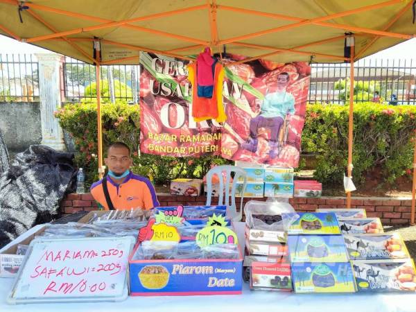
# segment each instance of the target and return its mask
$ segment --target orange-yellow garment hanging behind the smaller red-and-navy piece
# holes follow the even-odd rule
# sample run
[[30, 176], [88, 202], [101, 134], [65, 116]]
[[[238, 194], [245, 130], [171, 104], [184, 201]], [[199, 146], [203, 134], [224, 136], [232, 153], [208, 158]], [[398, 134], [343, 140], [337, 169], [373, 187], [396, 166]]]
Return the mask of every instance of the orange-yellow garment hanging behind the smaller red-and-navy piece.
[[188, 80], [192, 84], [192, 116], [196, 122], [215, 119], [219, 123], [227, 119], [223, 105], [224, 68], [219, 62], [215, 65], [214, 91], [212, 98], [202, 98], [197, 92], [196, 62], [188, 65]]

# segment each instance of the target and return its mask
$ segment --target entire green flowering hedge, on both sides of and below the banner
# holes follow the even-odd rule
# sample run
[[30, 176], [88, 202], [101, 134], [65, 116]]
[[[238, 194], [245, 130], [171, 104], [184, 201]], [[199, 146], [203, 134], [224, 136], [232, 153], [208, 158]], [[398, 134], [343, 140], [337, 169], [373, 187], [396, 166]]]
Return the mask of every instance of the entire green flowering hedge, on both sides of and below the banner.
[[[64, 130], [73, 137], [78, 166], [85, 168], [87, 182], [97, 180], [96, 104], [69, 104], [55, 112]], [[133, 170], [156, 184], [176, 177], [203, 177], [211, 164], [226, 164], [220, 157], [175, 158], [139, 154], [139, 107], [118, 102], [102, 105], [103, 144], [125, 141], [133, 151]], [[356, 103], [354, 106], [354, 182], [365, 183], [370, 173], [380, 184], [394, 184], [408, 175], [413, 161], [416, 107]], [[347, 167], [348, 107], [308, 105], [302, 134], [302, 151], [316, 157], [315, 177], [327, 186], [339, 187]], [[301, 162], [300, 168], [304, 167]]]

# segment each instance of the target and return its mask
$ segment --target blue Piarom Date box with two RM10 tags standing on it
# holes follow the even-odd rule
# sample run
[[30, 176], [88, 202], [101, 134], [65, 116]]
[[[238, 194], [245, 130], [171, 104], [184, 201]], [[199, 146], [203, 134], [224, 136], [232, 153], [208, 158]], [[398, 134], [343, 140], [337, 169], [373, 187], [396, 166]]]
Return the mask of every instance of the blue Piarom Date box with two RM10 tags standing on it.
[[241, 293], [243, 256], [236, 234], [222, 216], [211, 218], [189, 241], [181, 239], [181, 225], [162, 218], [150, 219], [139, 230], [129, 257], [131, 295]]

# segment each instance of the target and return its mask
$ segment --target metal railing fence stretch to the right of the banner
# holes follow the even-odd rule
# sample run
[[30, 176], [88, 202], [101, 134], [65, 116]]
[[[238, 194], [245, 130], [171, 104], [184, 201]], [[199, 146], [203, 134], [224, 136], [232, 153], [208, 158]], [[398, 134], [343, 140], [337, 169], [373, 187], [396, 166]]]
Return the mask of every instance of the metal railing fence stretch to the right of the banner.
[[[349, 101], [349, 64], [311, 67], [309, 103]], [[359, 60], [354, 64], [354, 101], [415, 105], [415, 77], [416, 60]]]

